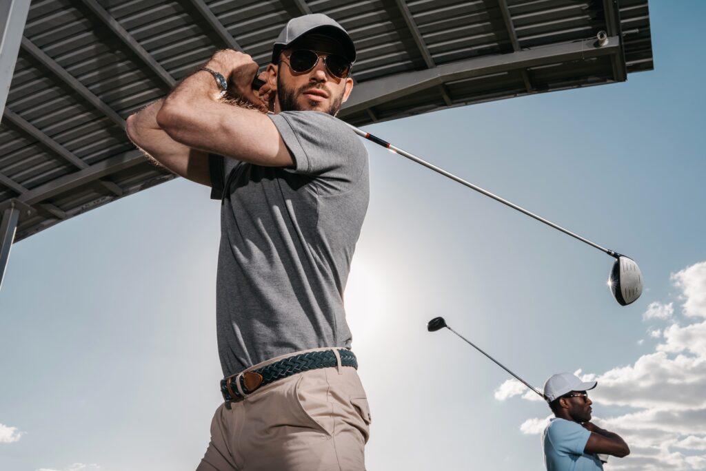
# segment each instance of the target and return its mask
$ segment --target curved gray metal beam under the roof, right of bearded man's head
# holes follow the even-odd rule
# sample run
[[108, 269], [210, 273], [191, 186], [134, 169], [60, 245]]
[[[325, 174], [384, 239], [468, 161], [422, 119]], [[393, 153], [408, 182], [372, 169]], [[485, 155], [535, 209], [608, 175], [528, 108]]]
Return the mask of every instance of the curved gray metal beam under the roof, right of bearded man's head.
[[364, 111], [409, 94], [438, 87], [446, 82], [517, 71], [520, 68], [549, 65], [551, 63], [592, 59], [620, 53], [618, 37], [608, 38], [608, 44], [599, 46], [593, 39], [564, 42], [546, 47], [525, 49], [508, 54], [480, 56], [466, 61], [443, 64], [423, 71], [405, 72], [364, 82], [356, 87], [351, 98], [341, 109], [341, 118]]

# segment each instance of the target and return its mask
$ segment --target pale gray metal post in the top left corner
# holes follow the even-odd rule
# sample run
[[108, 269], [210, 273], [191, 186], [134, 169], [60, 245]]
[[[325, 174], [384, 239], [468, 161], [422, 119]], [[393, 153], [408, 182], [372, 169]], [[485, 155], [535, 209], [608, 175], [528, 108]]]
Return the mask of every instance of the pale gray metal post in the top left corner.
[[0, 1], [0, 120], [10, 91], [29, 11], [30, 0]]

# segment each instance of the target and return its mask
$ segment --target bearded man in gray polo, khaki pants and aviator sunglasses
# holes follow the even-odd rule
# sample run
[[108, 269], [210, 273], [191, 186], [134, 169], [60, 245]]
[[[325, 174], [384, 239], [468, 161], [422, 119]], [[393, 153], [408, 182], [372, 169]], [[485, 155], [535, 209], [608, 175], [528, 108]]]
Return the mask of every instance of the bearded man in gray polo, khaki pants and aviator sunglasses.
[[[368, 206], [368, 159], [335, 118], [355, 57], [335, 21], [295, 18], [259, 91], [250, 56], [218, 51], [128, 118], [145, 154], [210, 185], [222, 204], [216, 316], [226, 402], [200, 471], [365, 469], [370, 412], [343, 291]], [[225, 92], [261, 110], [225, 104]]]

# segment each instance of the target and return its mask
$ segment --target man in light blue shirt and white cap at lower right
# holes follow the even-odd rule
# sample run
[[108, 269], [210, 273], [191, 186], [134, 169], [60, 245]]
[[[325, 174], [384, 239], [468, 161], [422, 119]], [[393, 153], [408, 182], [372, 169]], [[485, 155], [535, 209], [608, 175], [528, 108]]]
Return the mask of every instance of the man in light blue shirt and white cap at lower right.
[[592, 400], [587, 391], [597, 381], [581, 381], [575, 374], [554, 374], [544, 383], [544, 398], [554, 418], [542, 434], [547, 471], [602, 470], [597, 454], [622, 458], [630, 448], [618, 434], [591, 422]]

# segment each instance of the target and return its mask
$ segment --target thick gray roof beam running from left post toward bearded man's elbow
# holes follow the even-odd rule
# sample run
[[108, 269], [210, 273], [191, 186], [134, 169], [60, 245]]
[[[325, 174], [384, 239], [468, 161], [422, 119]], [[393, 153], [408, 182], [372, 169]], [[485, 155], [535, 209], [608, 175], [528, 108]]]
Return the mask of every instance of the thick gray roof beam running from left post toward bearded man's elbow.
[[81, 185], [86, 185], [111, 173], [142, 164], [145, 161], [147, 161], [147, 159], [145, 159], [142, 152], [137, 149], [131, 150], [124, 154], [102, 160], [87, 169], [69, 173], [68, 175], [56, 178], [56, 180], [45, 183], [37, 188], [32, 188], [32, 190], [20, 194], [17, 199], [20, 202], [34, 206], [37, 203], [44, 202], [44, 200], [60, 195], [63, 192], [73, 190], [73, 188], [78, 188]]

